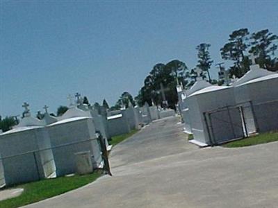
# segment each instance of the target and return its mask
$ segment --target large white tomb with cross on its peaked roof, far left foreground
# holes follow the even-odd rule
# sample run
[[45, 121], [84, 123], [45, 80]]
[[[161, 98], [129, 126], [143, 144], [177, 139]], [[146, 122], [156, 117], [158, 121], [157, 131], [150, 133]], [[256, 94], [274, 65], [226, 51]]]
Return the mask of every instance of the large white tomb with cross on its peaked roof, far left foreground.
[[24, 107], [25, 117], [19, 125], [0, 135], [0, 153], [7, 185], [56, 177], [56, 165], [44, 122], [31, 116], [27, 103]]

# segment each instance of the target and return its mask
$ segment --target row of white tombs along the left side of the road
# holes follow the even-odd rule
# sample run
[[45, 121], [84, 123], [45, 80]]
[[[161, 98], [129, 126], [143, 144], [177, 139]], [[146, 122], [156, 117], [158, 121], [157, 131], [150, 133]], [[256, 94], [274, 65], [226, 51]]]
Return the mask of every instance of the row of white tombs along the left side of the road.
[[0, 133], [0, 188], [103, 168], [98, 135], [110, 150], [111, 137], [175, 114], [174, 110], [158, 110], [147, 103], [104, 114], [84, 104], [70, 105], [59, 117], [45, 110], [39, 120], [26, 107], [19, 124]]

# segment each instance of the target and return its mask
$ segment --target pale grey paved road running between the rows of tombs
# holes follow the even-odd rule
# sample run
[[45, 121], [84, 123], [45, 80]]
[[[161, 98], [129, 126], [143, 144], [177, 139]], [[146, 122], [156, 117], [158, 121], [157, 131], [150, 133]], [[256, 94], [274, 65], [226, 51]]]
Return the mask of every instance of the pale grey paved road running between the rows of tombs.
[[277, 207], [277, 142], [201, 149], [177, 122], [156, 121], [116, 146], [113, 177], [28, 208]]

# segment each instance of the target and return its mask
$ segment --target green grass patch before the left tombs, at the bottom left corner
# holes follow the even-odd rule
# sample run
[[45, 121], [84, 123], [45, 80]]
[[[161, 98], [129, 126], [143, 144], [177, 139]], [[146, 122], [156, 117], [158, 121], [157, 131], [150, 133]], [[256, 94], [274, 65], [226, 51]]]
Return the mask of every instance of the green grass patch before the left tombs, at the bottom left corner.
[[57, 177], [21, 184], [17, 187], [24, 189], [22, 195], [0, 201], [0, 208], [22, 207], [33, 202], [51, 198], [61, 193], [82, 187], [85, 184], [93, 182], [100, 176], [101, 173], [92, 173], [88, 175], [74, 175], [72, 177]]

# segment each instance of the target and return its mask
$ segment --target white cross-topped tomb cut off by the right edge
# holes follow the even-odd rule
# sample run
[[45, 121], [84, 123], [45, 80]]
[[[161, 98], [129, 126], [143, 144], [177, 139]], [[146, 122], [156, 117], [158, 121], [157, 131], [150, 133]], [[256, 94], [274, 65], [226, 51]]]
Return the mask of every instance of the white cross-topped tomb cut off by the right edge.
[[252, 56], [250, 71], [233, 86], [236, 103], [243, 105], [248, 133], [277, 130], [278, 73], [261, 69]]

